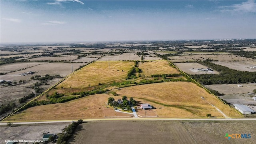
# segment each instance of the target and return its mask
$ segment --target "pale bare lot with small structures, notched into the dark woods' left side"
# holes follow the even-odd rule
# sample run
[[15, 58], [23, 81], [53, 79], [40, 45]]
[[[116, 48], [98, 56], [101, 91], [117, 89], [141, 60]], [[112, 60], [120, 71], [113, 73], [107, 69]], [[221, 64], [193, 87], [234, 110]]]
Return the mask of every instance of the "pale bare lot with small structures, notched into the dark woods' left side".
[[194, 69], [197, 69], [197, 68], [208, 68], [208, 67], [203, 66], [202, 64], [195, 63], [195, 62], [175, 63], [174, 65], [177, 66], [183, 72], [186, 72], [188, 74], [219, 74], [219, 72], [217, 72], [217, 71], [213, 71], [213, 72], [196, 71]]

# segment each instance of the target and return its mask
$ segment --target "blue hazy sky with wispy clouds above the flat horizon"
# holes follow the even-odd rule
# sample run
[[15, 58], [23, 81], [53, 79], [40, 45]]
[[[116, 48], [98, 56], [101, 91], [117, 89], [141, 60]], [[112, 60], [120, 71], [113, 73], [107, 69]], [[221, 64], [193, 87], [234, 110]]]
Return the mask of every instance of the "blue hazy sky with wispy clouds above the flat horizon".
[[1, 43], [256, 38], [256, 1], [0, 0]]

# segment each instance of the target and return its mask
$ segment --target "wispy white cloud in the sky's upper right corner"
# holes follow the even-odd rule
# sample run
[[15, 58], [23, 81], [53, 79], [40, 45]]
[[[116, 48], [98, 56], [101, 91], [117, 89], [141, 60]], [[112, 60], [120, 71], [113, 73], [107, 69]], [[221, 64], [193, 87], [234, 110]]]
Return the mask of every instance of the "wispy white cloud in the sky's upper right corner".
[[248, 0], [241, 4], [233, 4], [232, 6], [221, 6], [222, 12], [256, 12], [256, 3], [254, 0]]

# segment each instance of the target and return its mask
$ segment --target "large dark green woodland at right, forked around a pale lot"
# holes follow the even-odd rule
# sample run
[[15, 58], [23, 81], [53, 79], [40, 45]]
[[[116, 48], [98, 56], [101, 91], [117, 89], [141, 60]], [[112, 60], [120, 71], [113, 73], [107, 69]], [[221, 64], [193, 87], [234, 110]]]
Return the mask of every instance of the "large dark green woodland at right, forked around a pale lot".
[[200, 84], [238, 84], [256, 82], [256, 72], [242, 72], [206, 61], [199, 61], [198, 63], [220, 72], [220, 74], [192, 75], [191, 78], [195, 79]]

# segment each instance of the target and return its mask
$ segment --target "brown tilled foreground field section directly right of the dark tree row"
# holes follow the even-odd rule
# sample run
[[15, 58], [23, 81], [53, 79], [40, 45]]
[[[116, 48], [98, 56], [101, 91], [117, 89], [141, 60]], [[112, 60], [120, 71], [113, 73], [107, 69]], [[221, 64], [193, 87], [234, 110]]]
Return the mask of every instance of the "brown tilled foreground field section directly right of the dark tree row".
[[[179, 122], [97, 121], [82, 124], [70, 144], [194, 144]], [[120, 140], [120, 141], [117, 141]]]

